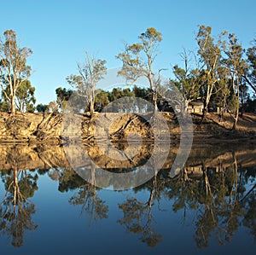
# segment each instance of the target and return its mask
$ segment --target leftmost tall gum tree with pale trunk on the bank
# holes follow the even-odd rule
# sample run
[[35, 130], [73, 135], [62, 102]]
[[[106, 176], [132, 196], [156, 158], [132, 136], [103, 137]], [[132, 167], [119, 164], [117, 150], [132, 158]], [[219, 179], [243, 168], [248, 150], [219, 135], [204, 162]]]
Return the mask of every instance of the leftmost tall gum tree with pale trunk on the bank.
[[[15, 114], [16, 92], [31, 74], [31, 67], [26, 65], [26, 59], [32, 55], [32, 49], [20, 48], [13, 30], [5, 31], [3, 36], [4, 40], [0, 42], [0, 85], [3, 95], [11, 104], [11, 113]], [[9, 95], [6, 91], [8, 87]]]

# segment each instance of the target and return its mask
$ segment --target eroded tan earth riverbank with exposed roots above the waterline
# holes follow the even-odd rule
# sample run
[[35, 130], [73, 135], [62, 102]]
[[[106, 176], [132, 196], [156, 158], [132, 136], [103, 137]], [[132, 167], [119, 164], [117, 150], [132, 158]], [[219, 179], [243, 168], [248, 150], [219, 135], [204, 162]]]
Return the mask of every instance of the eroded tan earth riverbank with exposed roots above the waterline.
[[[161, 113], [167, 124], [158, 123], [157, 128], [163, 141], [171, 136], [171, 141], [180, 139], [181, 130], [177, 117], [173, 113]], [[114, 119], [112, 121], [112, 119]], [[89, 114], [79, 115], [76, 129], [67, 131], [62, 126], [61, 113], [0, 113], [0, 142], [30, 142], [30, 143], [66, 143], [72, 142], [76, 136], [84, 142], [94, 142], [95, 137], [108, 138], [113, 142], [125, 142], [128, 136], [137, 133], [143, 141], [154, 141], [154, 130], [145, 119], [147, 114], [137, 116], [132, 113], [95, 113], [90, 119]], [[219, 119], [217, 113], [207, 113], [207, 118], [201, 122], [201, 115], [193, 114], [193, 140], [202, 141], [256, 141], [256, 114], [244, 113], [239, 118], [237, 130], [231, 130], [233, 119], [229, 113], [224, 119]], [[73, 120], [71, 119], [71, 122]], [[81, 126], [79, 129], [78, 126]], [[79, 134], [79, 132], [80, 134]], [[136, 138], [136, 136], [135, 136]], [[107, 139], [107, 138], [106, 138]]]

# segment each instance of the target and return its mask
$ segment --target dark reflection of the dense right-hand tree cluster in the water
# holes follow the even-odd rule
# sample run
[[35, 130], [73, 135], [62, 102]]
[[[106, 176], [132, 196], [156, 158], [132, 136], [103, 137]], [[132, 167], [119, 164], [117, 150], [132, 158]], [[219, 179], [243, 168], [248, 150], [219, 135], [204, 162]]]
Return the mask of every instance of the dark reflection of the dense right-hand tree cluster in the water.
[[195, 212], [195, 242], [199, 248], [207, 247], [212, 235], [220, 245], [231, 241], [241, 224], [255, 234], [255, 184], [246, 193], [247, 178], [252, 172], [255, 183], [255, 170], [238, 171], [236, 154], [230, 167], [207, 168], [202, 164], [200, 177], [193, 176], [192, 171], [189, 175], [188, 170], [184, 168], [169, 180], [165, 192], [175, 201], [174, 212], [184, 210], [184, 220], [188, 209]]

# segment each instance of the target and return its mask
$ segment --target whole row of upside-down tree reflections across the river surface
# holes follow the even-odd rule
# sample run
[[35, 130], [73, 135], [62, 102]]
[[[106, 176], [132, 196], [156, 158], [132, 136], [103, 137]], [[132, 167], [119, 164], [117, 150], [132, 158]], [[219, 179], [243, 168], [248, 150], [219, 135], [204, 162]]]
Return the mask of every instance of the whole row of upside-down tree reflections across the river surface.
[[[199, 248], [209, 246], [214, 238], [220, 245], [230, 242], [241, 227], [247, 228], [256, 241], [256, 166], [242, 167], [240, 160], [236, 153], [214, 164], [207, 157], [199, 157], [190, 160], [175, 177], [168, 169], [154, 169], [151, 180], [130, 190], [131, 195], [119, 203], [123, 217], [118, 223], [148, 246], [157, 246], [162, 240], [157, 221], [164, 213], [157, 205], [169, 200], [173, 213], [181, 212], [184, 223], [195, 225]], [[95, 183], [94, 165], [89, 172], [90, 183]], [[73, 192], [70, 205], [80, 206], [92, 223], [108, 218], [108, 204], [98, 194], [100, 188], [85, 182], [73, 169], [51, 168], [37, 173], [58, 182], [60, 192]], [[18, 171], [17, 166], [0, 174], [6, 192], [0, 206], [0, 231], [13, 246], [21, 246], [25, 231], [37, 229], [32, 222], [35, 206], [28, 199], [38, 189], [38, 175], [35, 171]], [[146, 195], [145, 200], [139, 199], [140, 191]]]

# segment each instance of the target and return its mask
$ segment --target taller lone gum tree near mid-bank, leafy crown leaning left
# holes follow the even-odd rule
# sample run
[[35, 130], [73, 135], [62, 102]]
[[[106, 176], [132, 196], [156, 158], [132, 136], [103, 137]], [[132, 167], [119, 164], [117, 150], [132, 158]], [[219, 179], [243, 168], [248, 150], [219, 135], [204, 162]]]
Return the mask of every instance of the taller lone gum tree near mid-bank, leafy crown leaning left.
[[153, 63], [157, 56], [162, 35], [154, 27], [149, 27], [138, 38], [139, 43], [125, 45], [125, 51], [117, 55], [117, 58], [123, 62], [119, 75], [124, 76], [132, 83], [136, 82], [138, 78], [147, 78], [153, 95], [154, 110], [156, 111], [159, 72], [154, 72]]

